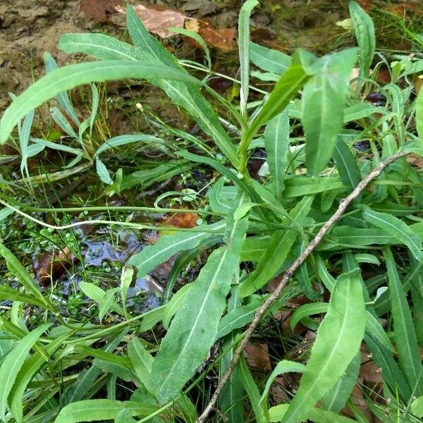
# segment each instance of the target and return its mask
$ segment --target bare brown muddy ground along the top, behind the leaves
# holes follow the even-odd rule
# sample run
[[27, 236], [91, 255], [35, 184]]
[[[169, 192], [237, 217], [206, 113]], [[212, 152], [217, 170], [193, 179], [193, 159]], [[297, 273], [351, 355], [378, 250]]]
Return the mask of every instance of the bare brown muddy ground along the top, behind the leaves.
[[[8, 92], [18, 94], [39, 78], [43, 70], [42, 55], [49, 51], [59, 64], [68, 56], [57, 50], [61, 34], [66, 32], [102, 31], [122, 34], [123, 16], [107, 16], [107, 23], [99, 23], [81, 10], [84, 0], [0, 0], [0, 112], [10, 102]], [[91, 2], [90, 2], [91, 1]], [[90, 5], [109, 5], [118, 0], [89, 0]], [[215, 27], [235, 27], [241, 0], [131, 0], [131, 4], [159, 4], [178, 9], [187, 16], [207, 20]], [[386, 4], [405, 4], [418, 15], [421, 0], [386, 2], [360, 1], [360, 4], [385, 7]], [[412, 6], [412, 8], [411, 8]], [[88, 6], [90, 8], [90, 6]], [[106, 6], [107, 7], [107, 6]], [[331, 44], [341, 47], [353, 43], [336, 23], [348, 16], [348, 0], [262, 0], [252, 16], [252, 27], [259, 42], [270, 47], [291, 51], [304, 47], [314, 51]], [[254, 32], [253, 32], [254, 34]], [[217, 54], [221, 52], [217, 51]], [[235, 56], [234, 56], [235, 57]], [[233, 61], [233, 60], [232, 60]]]

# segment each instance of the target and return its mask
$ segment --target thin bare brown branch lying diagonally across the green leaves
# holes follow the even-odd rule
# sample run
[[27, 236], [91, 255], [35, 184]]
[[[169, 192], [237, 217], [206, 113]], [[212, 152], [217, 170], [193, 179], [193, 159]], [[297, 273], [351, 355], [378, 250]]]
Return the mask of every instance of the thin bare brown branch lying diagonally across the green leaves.
[[236, 365], [238, 364], [238, 360], [240, 359], [240, 355], [243, 353], [243, 350], [247, 343], [250, 341], [250, 338], [252, 336], [252, 333], [255, 331], [257, 324], [259, 324], [260, 319], [262, 319], [263, 314], [269, 309], [269, 307], [278, 299], [279, 295], [281, 294], [283, 287], [286, 286], [289, 279], [295, 271], [301, 266], [302, 263], [305, 262], [305, 259], [312, 253], [314, 248], [319, 245], [321, 240], [324, 238], [324, 235], [328, 233], [329, 229], [343, 216], [345, 213], [345, 210], [350, 205], [351, 202], [353, 202], [359, 195], [362, 193], [364, 188], [374, 180], [374, 178], [377, 178], [383, 171], [386, 166], [389, 166], [394, 161], [400, 159], [400, 157], [405, 157], [408, 152], [398, 152], [396, 154], [393, 154], [391, 157], [388, 157], [388, 159], [385, 159], [384, 161], [381, 161], [376, 168], [373, 169], [372, 172], [370, 172], [364, 179], [360, 181], [360, 183], [354, 188], [354, 190], [345, 198], [343, 198], [339, 202], [339, 207], [336, 210], [336, 212], [331, 216], [331, 218], [326, 221], [324, 226], [321, 226], [320, 231], [317, 233], [317, 235], [310, 241], [310, 243], [305, 247], [305, 250], [302, 252], [302, 254], [291, 264], [288, 270], [286, 270], [283, 273], [283, 277], [281, 281], [278, 283], [278, 286], [276, 287], [276, 290], [274, 290], [273, 293], [267, 298], [267, 300], [263, 303], [259, 309], [257, 309], [257, 312], [255, 314], [254, 319], [252, 320], [250, 326], [248, 327], [247, 331], [245, 331], [245, 336], [243, 338], [243, 341], [241, 341], [240, 345], [238, 345], [238, 348], [235, 350], [235, 353], [233, 354], [232, 360], [228, 365], [228, 369], [226, 369], [225, 374], [223, 374], [223, 377], [221, 381], [219, 381], [219, 384], [216, 387], [216, 391], [214, 391], [214, 394], [212, 396], [212, 399], [209, 401], [209, 404], [204, 409], [204, 412], [202, 412], [202, 415], [198, 417], [196, 420], [196, 423], [203, 423], [204, 420], [207, 418], [207, 416], [210, 414], [210, 412], [214, 409], [214, 406], [216, 405], [216, 401], [219, 398], [219, 395], [223, 389], [223, 386], [225, 386], [226, 382], [231, 377], [231, 374], [235, 370]]

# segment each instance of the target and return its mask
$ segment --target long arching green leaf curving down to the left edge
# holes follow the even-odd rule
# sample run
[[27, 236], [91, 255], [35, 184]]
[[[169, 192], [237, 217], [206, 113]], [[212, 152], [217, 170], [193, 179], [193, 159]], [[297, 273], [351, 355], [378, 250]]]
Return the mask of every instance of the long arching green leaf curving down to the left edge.
[[0, 143], [4, 144], [18, 121], [32, 109], [55, 97], [63, 90], [71, 90], [90, 82], [135, 79], [183, 80], [199, 83], [195, 78], [167, 66], [150, 66], [130, 61], [101, 61], [63, 66], [47, 73], [30, 85], [4, 112], [0, 121]]

